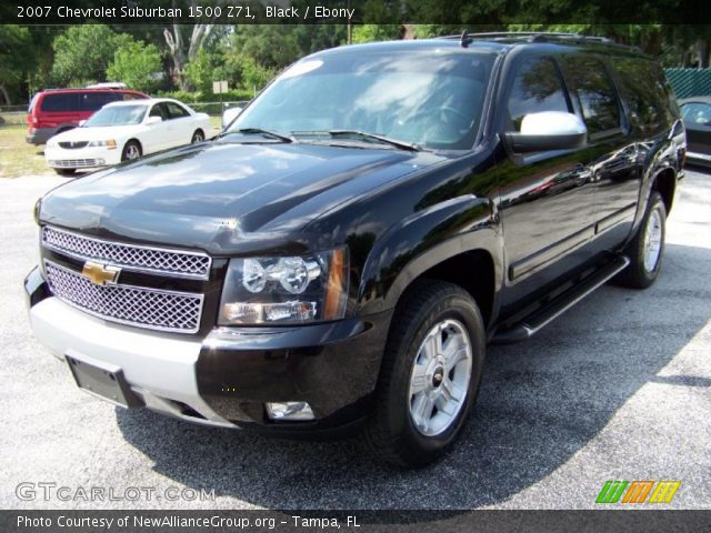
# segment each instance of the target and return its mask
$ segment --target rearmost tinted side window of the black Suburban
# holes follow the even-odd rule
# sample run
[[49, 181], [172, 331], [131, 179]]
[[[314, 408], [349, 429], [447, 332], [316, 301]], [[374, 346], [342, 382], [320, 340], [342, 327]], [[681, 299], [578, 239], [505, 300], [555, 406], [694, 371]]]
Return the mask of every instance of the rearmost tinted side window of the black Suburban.
[[654, 63], [639, 58], [612, 58], [612, 66], [632, 121], [642, 127], [665, 122], [668, 94]]

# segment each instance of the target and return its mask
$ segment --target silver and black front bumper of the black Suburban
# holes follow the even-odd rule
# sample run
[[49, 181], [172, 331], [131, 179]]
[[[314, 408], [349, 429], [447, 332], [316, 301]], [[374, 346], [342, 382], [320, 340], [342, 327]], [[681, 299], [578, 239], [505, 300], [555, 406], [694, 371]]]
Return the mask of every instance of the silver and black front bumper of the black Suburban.
[[[26, 280], [30, 323], [58, 359], [119, 366], [144, 406], [191, 422], [279, 434], [351, 428], [368, 413], [391, 313], [296, 328], [218, 328], [207, 336], [107, 322]], [[69, 372], [67, 373], [69, 376]], [[306, 401], [314, 421], [272, 421], [266, 402]]]

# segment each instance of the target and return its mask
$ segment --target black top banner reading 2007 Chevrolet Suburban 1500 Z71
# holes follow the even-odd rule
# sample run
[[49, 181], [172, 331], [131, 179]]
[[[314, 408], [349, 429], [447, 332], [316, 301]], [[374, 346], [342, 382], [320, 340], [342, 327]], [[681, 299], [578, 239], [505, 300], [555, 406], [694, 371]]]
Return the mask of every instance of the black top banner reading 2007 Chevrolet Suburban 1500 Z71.
[[[0, 23], [16, 24], [703, 24], [704, 0], [16, 0]], [[470, 28], [473, 29], [473, 28]]]

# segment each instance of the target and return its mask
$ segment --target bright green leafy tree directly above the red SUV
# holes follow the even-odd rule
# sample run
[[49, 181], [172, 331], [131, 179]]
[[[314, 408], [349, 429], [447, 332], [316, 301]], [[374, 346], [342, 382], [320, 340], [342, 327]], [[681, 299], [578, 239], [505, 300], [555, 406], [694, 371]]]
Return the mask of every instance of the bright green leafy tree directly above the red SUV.
[[108, 26], [71, 26], [52, 43], [54, 64], [52, 78], [59, 84], [103, 81], [113, 53], [133, 39], [117, 33]]

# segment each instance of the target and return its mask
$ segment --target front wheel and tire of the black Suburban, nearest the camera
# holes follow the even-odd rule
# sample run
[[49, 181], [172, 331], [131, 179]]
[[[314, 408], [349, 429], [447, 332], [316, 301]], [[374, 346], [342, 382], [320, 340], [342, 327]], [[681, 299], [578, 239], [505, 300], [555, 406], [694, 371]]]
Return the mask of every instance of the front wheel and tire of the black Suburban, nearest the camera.
[[[441, 457], [474, 403], [484, 350], [483, 320], [467, 291], [442, 281], [415, 282], [395, 310], [374, 409], [363, 430], [372, 453], [408, 469]], [[448, 403], [457, 396], [459, 402]]]

